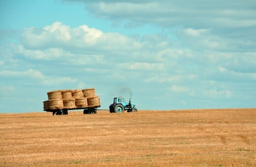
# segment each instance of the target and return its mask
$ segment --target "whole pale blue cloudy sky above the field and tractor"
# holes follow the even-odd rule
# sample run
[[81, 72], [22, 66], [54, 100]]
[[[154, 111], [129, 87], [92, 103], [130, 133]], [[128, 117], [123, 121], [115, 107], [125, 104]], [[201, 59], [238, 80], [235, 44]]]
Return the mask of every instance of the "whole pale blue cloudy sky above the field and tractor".
[[84, 88], [100, 109], [256, 108], [256, 1], [0, 0], [0, 113]]

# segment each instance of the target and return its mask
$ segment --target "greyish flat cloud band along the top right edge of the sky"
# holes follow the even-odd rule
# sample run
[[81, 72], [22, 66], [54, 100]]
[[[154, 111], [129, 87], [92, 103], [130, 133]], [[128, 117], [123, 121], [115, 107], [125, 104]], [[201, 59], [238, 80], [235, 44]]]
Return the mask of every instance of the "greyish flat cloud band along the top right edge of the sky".
[[232, 0], [225, 2], [215, 0], [214, 3], [202, 3], [200, 0], [191, 0], [186, 3], [168, 0], [113, 3], [102, 0], [100, 2], [90, 1], [86, 4], [86, 8], [95, 16], [114, 21], [127, 19], [137, 23], [153, 23], [164, 27], [183, 24], [189, 28], [256, 26], [256, 19], [253, 17], [256, 12], [250, 6], [255, 6], [252, 0], [246, 0], [243, 3]]

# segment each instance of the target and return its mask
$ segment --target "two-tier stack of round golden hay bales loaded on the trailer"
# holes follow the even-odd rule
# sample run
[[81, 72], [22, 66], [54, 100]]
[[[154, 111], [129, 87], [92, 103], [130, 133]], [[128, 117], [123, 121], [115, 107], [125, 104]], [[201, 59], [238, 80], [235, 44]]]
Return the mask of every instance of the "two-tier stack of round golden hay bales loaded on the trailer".
[[100, 101], [94, 88], [75, 90], [53, 90], [47, 92], [48, 100], [43, 102], [44, 110], [63, 110], [99, 107]]

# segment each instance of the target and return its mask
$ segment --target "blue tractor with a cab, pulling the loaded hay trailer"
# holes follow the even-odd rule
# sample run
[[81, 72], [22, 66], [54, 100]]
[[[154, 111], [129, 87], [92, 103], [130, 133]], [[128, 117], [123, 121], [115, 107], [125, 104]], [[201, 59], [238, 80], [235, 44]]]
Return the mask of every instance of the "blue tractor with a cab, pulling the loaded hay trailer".
[[127, 104], [125, 102], [125, 99], [123, 97], [115, 97], [113, 104], [109, 106], [110, 113], [113, 112], [137, 112], [138, 110], [135, 108], [135, 104], [131, 103], [129, 100], [129, 103]]

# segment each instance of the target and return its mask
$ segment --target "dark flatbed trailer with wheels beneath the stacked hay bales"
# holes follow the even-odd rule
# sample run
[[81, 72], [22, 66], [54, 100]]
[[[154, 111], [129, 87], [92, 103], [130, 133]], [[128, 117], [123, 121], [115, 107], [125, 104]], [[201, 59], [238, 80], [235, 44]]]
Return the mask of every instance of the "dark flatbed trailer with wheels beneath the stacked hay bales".
[[71, 109], [47, 109], [44, 111], [47, 112], [52, 112], [53, 115], [67, 115], [68, 114], [68, 110], [84, 110], [83, 113], [84, 114], [95, 114], [97, 113], [98, 109], [100, 106], [88, 106], [88, 107], [82, 107], [82, 108], [71, 108]]

